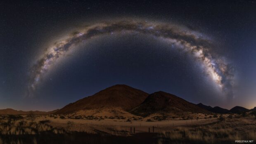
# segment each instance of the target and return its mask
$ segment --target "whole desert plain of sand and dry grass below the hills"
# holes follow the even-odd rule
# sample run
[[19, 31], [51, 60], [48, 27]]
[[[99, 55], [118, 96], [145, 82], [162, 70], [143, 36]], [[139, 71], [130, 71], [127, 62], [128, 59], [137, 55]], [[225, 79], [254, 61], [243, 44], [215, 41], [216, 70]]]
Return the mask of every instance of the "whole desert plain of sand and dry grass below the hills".
[[145, 118], [78, 114], [2, 115], [0, 144], [229, 144], [256, 140], [256, 119], [251, 113]]

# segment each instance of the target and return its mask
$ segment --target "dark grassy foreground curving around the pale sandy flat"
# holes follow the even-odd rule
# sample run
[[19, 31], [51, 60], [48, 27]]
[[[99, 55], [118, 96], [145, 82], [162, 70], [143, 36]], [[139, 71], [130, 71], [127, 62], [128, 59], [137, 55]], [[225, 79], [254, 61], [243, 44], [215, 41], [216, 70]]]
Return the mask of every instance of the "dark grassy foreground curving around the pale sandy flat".
[[97, 134], [69, 131], [31, 116], [0, 116], [0, 144], [233, 144], [235, 140], [256, 140], [256, 120], [251, 115], [254, 113], [220, 116], [210, 124], [166, 127], [159, 133], [126, 132], [122, 136], [99, 130]]

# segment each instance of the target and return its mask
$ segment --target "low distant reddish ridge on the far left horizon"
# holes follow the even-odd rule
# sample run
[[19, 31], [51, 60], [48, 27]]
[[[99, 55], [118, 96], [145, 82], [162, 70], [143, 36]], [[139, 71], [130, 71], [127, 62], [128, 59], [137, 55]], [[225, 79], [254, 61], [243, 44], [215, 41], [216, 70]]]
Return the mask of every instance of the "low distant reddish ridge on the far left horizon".
[[28, 114], [33, 113], [33, 114], [38, 115], [38, 114], [51, 114], [56, 111], [57, 110], [45, 112], [45, 111], [17, 111], [14, 109], [0, 109], [0, 114], [2, 114], [2, 115], [28, 115]]

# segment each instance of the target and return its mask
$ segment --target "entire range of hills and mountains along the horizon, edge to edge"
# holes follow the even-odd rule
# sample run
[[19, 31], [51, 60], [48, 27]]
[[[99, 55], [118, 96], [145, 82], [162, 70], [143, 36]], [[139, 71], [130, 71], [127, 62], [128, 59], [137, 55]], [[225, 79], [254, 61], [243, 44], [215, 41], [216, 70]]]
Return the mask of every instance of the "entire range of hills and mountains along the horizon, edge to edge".
[[180, 115], [192, 113], [241, 113], [254, 111], [241, 106], [228, 110], [219, 106], [211, 107], [202, 103], [193, 104], [166, 92], [147, 94], [142, 90], [128, 85], [114, 85], [96, 94], [80, 99], [74, 103], [54, 111], [17, 111], [14, 109], [0, 109], [2, 115], [28, 115], [28, 114], [66, 114], [90, 116], [149, 116], [150, 114]]

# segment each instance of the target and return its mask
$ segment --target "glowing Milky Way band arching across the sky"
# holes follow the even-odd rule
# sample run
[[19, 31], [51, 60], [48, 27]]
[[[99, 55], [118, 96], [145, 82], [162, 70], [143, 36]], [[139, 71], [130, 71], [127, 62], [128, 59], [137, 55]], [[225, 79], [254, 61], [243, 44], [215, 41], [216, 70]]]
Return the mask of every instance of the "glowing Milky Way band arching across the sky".
[[220, 87], [223, 92], [232, 95], [232, 68], [230, 65], [214, 54], [212, 42], [201, 38], [200, 33], [195, 33], [187, 28], [170, 23], [158, 23], [147, 21], [108, 21], [86, 26], [81, 31], [73, 32], [69, 38], [55, 42], [52, 47], [48, 47], [45, 53], [33, 65], [30, 73], [27, 94], [33, 95], [38, 83], [43, 79], [43, 75], [51, 69], [52, 65], [59, 57], [76, 45], [95, 36], [134, 32], [152, 35], [163, 38], [165, 42], [176, 45], [183, 50], [190, 52], [204, 66], [206, 74], [213, 82]]

